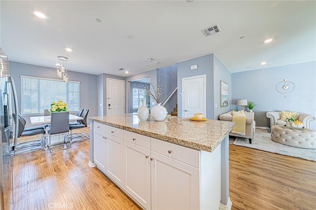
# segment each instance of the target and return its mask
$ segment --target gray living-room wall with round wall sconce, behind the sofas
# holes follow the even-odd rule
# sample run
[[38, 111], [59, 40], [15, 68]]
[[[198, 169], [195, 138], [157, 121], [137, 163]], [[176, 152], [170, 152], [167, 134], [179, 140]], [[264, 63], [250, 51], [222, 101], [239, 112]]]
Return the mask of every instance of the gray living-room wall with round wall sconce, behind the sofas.
[[[276, 84], [283, 79], [296, 85], [286, 98], [276, 91]], [[270, 126], [267, 111], [287, 110], [316, 115], [316, 61], [233, 73], [232, 87], [233, 108], [238, 108], [238, 99], [257, 104], [253, 108], [256, 126]], [[311, 126], [315, 130], [316, 122]]]

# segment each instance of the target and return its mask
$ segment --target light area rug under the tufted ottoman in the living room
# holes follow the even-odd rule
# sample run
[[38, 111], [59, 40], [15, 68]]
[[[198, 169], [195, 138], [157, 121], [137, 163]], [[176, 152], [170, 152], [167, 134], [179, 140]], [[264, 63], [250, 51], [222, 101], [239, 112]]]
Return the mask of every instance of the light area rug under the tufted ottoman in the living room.
[[252, 143], [248, 139], [237, 137], [235, 145], [246, 146], [249, 148], [259, 149], [267, 152], [278, 153], [292, 157], [299, 157], [307, 160], [316, 161], [316, 149], [303, 149], [294, 146], [288, 146], [271, 140], [271, 134], [256, 129]]

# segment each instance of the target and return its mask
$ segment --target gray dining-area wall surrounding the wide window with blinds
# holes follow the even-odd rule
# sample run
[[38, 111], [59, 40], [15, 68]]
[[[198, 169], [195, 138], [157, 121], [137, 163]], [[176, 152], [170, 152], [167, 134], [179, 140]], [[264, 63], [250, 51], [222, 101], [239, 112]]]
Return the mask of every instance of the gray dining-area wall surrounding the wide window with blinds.
[[[58, 79], [56, 69], [40, 67], [35, 65], [9, 62], [10, 75], [13, 77], [19, 102], [19, 112], [21, 112], [21, 77], [20, 75], [37, 76], [43, 78]], [[80, 107], [88, 108], [89, 116], [97, 114], [97, 76], [87, 73], [67, 71], [69, 80], [80, 81]], [[24, 116], [26, 127], [32, 127], [30, 116]]]

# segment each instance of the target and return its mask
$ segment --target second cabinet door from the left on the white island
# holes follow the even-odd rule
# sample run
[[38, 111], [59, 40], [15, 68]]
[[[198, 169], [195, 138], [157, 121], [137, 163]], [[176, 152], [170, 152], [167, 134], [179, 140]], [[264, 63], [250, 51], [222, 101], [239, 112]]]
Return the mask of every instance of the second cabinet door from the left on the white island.
[[119, 186], [123, 186], [123, 140], [107, 134], [107, 143], [106, 174]]

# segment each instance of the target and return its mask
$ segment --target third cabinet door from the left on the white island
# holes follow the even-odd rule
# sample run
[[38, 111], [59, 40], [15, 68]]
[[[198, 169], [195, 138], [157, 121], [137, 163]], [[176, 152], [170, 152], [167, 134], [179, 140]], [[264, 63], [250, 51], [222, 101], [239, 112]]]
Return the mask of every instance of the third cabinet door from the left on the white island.
[[150, 150], [124, 140], [124, 190], [145, 209], [151, 209]]

